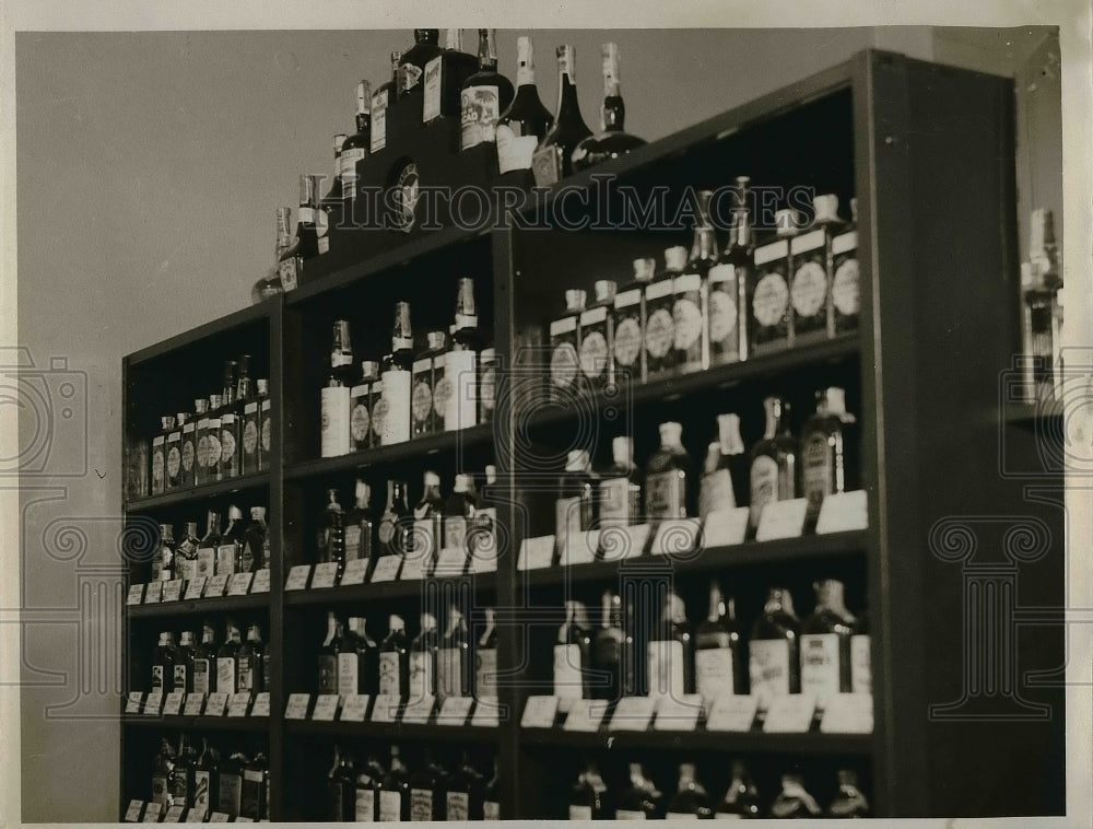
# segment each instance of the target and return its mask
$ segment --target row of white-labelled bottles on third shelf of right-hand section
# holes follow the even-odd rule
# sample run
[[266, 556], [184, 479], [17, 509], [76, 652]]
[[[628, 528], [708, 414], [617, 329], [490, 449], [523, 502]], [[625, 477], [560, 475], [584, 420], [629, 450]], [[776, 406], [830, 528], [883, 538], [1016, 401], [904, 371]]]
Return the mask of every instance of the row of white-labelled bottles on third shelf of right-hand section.
[[815, 584], [815, 608], [803, 621], [789, 591], [772, 587], [747, 641], [733, 599], [716, 581], [706, 618], [693, 627], [683, 599], [657, 586], [665, 596], [659, 610], [604, 592], [598, 627], [583, 603], [565, 603], [554, 696], [614, 701], [700, 693], [709, 701], [752, 693], [765, 708], [772, 697], [808, 693], [822, 708], [831, 694], [871, 692], [868, 628], [846, 608], [842, 582]]

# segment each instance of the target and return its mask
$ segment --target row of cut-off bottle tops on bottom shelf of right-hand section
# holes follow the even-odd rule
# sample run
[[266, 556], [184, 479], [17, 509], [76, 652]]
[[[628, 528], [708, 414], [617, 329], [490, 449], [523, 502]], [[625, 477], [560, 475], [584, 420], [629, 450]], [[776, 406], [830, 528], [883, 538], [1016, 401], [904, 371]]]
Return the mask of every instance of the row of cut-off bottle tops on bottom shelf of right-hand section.
[[740, 760], [732, 762], [728, 787], [714, 798], [698, 780], [694, 763], [681, 763], [675, 793], [666, 796], [642, 763], [628, 766], [624, 789], [612, 792], [595, 762], [580, 772], [569, 795], [571, 820], [655, 820], [658, 818], [863, 818], [869, 802], [858, 786], [857, 774], [838, 770], [838, 789], [826, 809], [804, 787], [799, 773], [781, 775], [781, 790], [764, 798]]

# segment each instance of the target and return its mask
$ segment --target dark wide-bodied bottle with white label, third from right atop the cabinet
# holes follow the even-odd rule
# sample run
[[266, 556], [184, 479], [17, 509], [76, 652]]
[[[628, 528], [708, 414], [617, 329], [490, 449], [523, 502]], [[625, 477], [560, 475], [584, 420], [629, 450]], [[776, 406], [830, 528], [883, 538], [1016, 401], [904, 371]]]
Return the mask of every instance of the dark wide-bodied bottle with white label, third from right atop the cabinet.
[[531, 187], [531, 156], [546, 137], [554, 116], [539, 100], [531, 37], [516, 39], [516, 97], [497, 119], [497, 170], [504, 184]]

